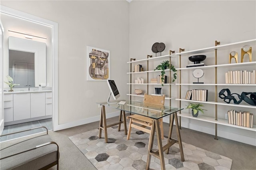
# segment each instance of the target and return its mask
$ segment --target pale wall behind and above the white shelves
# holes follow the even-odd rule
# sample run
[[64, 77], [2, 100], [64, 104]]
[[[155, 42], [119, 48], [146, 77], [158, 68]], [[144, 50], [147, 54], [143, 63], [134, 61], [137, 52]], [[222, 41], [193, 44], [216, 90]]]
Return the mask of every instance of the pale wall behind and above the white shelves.
[[[214, 46], [215, 40], [221, 44], [239, 42], [256, 38], [256, 1], [132, 1], [130, 3], [130, 57], [144, 59], [146, 55], [155, 54], [151, 51], [154, 42], [164, 42], [166, 49], [162, 55], [168, 54], [168, 50], [185, 48], [185, 51]], [[228, 63], [228, 53], [218, 58], [219, 63]], [[240, 51], [238, 51], [240, 52]], [[253, 61], [256, 61], [255, 49], [253, 49]], [[157, 54], [158, 56], [160, 54]], [[214, 63], [214, 53], [206, 54], [206, 64]], [[222, 53], [218, 52], [218, 56]], [[173, 55], [175, 56], [175, 55]], [[240, 62], [240, 57], [239, 57]], [[182, 58], [183, 67], [191, 64], [187, 57]], [[172, 59], [172, 64], [178, 67], [178, 56]], [[244, 68], [239, 68], [244, 69]], [[256, 68], [255, 68], [256, 69]], [[234, 68], [237, 70], [237, 68]], [[201, 81], [213, 81], [214, 77], [207, 76], [207, 71]], [[223, 71], [223, 69], [222, 69]], [[218, 71], [218, 82], [222, 72]], [[178, 77], [180, 78], [180, 77]], [[191, 72], [182, 72], [182, 82], [191, 83], [197, 81]], [[176, 81], [178, 82], [178, 81]], [[168, 88], [168, 86], [164, 87]], [[186, 88], [182, 86], [182, 96], [186, 94]], [[190, 87], [193, 88], [193, 87]], [[195, 88], [195, 87], [194, 87]], [[206, 87], [205, 87], [206, 88]], [[218, 87], [218, 91], [220, 91]], [[230, 88], [232, 93], [242, 91], [255, 91], [255, 87], [223, 87]], [[209, 87], [207, 87], [209, 89]], [[210, 99], [214, 100], [214, 87], [209, 91]], [[172, 85], [172, 95], [178, 97], [178, 86]], [[167, 101], [166, 101], [167, 102]], [[188, 103], [182, 102], [182, 107]], [[172, 106], [178, 106], [178, 101], [172, 100]], [[214, 117], [214, 105], [205, 105], [208, 111], [204, 115]], [[225, 119], [225, 113], [234, 107], [218, 106], [218, 117]], [[235, 108], [237, 110], [246, 108]], [[244, 110], [245, 111], [245, 110]], [[255, 109], [246, 109], [254, 113]], [[183, 112], [189, 112], [188, 109]], [[168, 122], [168, 119], [164, 119]], [[256, 119], [254, 119], [254, 125]], [[182, 118], [182, 127], [215, 134], [215, 125], [202, 121]], [[242, 130], [218, 125], [218, 136], [238, 140], [240, 142], [256, 145], [254, 131]]]

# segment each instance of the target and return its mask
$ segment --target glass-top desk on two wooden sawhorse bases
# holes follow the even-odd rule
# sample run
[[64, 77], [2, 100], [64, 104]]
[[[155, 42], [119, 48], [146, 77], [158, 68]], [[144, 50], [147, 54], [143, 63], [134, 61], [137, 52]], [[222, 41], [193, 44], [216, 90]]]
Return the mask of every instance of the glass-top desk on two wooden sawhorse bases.
[[[182, 162], [184, 161], [184, 153], [183, 153], [183, 148], [182, 148], [182, 141], [181, 141], [180, 129], [179, 129], [179, 123], [178, 123], [178, 117], [177, 117], [177, 112], [182, 110], [181, 108], [164, 106], [164, 105], [156, 105], [156, 104], [145, 103], [145, 102], [140, 102], [140, 101], [130, 101], [130, 100], [126, 100], [126, 103], [124, 105], [118, 105], [117, 103], [107, 103], [107, 102], [97, 103], [97, 104], [101, 105], [99, 138], [101, 138], [102, 130], [104, 130], [106, 143], [108, 142], [108, 134], [107, 134], [108, 127], [118, 125], [118, 131], [120, 131], [120, 125], [121, 125], [121, 123], [124, 123], [124, 132], [125, 132], [125, 134], [127, 134], [125, 112], [150, 117], [154, 120], [153, 124], [152, 124], [152, 130], [151, 130], [151, 134], [150, 134], [149, 144], [148, 144], [149, 148], [148, 148], [148, 158], [147, 158], [146, 170], [149, 169], [151, 155], [160, 159], [161, 169], [165, 170], [163, 152], [166, 151], [166, 154], [168, 154], [170, 146], [172, 146], [176, 142], [180, 146], [181, 160], [182, 160]], [[105, 107], [110, 107], [110, 108], [120, 110], [120, 116], [119, 116], [118, 123], [113, 123], [111, 125], [106, 124]], [[172, 116], [172, 118], [171, 118], [169, 134], [168, 134], [168, 142], [166, 145], [162, 146], [160, 125], [159, 125], [158, 119], [166, 117], [168, 115], [174, 115], [174, 117]], [[123, 116], [123, 121], [122, 121], [122, 116]], [[177, 136], [178, 136], [177, 140], [171, 138], [174, 119], [175, 119], [175, 123], [176, 123], [176, 132], [177, 132]], [[157, 134], [156, 137], [157, 137], [157, 141], [158, 141], [158, 150], [157, 151], [152, 150], [155, 131]]]

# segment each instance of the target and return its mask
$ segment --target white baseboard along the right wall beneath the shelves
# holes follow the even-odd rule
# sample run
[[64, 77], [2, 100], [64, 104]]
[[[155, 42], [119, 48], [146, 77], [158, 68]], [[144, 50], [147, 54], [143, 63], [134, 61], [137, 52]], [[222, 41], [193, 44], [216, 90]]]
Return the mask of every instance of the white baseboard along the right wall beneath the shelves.
[[[165, 123], [169, 123], [169, 117], [164, 117], [163, 121]], [[174, 125], [175, 125], [175, 121], [174, 121]], [[215, 136], [214, 123], [207, 123], [207, 122], [202, 123], [202, 121], [193, 122], [191, 120], [188, 120], [188, 119], [186, 120], [185, 118], [182, 118], [181, 126], [184, 128], [189, 128], [192, 130], [204, 132], [207, 134], [212, 134]], [[237, 129], [233, 127], [218, 125], [217, 136], [256, 146], [255, 132], [249, 132], [250, 134], [248, 134], [248, 131], [249, 130], [243, 130], [243, 129]]]

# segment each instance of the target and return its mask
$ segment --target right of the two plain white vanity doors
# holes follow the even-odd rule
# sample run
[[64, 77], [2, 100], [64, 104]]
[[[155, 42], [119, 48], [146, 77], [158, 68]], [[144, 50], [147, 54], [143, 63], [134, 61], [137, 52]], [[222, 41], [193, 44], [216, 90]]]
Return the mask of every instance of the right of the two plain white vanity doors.
[[30, 118], [45, 116], [45, 93], [30, 93]]

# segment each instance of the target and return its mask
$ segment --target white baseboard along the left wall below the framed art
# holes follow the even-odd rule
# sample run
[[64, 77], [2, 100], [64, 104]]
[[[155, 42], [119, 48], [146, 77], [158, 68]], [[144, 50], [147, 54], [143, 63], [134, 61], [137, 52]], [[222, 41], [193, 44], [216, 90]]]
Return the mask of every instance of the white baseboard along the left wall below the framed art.
[[[119, 115], [120, 115], [120, 111], [113, 112], [113, 113], [108, 113], [108, 114], [106, 114], [106, 119], [111, 118], [111, 117], [116, 117], [116, 116], [119, 116]], [[90, 118], [87, 118], [87, 119], [82, 119], [82, 120], [79, 120], [79, 121], [64, 123], [64, 124], [54, 126], [54, 131], [58, 131], [58, 130], [66, 129], [66, 128], [71, 128], [71, 127], [76, 127], [76, 126], [84, 125], [84, 124], [87, 124], [87, 123], [96, 122], [96, 121], [99, 121], [99, 120], [100, 120], [100, 115], [95, 116], [95, 117], [90, 117]]]

